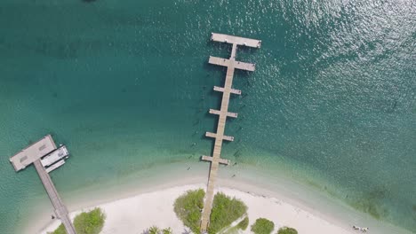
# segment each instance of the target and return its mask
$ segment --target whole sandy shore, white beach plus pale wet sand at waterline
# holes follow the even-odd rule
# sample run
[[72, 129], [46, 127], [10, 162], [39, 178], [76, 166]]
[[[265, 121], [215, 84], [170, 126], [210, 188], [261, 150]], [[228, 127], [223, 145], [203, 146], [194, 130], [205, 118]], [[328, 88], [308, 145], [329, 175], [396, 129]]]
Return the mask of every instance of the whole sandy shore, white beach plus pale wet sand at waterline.
[[[195, 164], [191, 171], [185, 172], [183, 168], [170, 167], [174, 169], [168, 170], [161, 167], [158, 171], [165, 170], [165, 173], [160, 177], [143, 175], [143, 180], [148, 183], [138, 182], [138, 177], [132, 176], [124, 178], [123, 183], [99, 184], [89, 191], [67, 193], [69, 199], [64, 201], [72, 211], [72, 218], [93, 207], [103, 208], [108, 218], [102, 233], [141, 233], [152, 225], [171, 227], [174, 233], [181, 233], [185, 227], [173, 213], [173, 201], [189, 189], [205, 189], [207, 171], [204, 166]], [[266, 184], [263, 176], [258, 174], [239, 174], [233, 179], [228, 177], [226, 174], [220, 177], [216, 191], [242, 199], [249, 207], [250, 225], [255, 219], [266, 217], [275, 222], [276, 229], [288, 225], [305, 234], [361, 233], [352, 230], [352, 225], [370, 227], [368, 233], [411, 233], [386, 222], [375, 221], [368, 214], [356, 212], [338, 200], [284, 178]], [[77, 198], [76, 194], [84, 197]], [[48, 207], [44, 215], [34, 217], [28, 223], [28, 230], [24, 233], [46, 233], [59, 225], [59, 221], [50, 219], [52, 206], [49, 204]]]

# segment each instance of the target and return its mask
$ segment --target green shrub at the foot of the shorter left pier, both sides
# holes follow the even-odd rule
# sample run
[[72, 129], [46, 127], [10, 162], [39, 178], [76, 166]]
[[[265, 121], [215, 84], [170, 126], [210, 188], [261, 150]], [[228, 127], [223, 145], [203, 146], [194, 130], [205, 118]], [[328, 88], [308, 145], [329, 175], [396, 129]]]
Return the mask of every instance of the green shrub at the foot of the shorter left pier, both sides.
[[[90, 212], [83, 212], [76, 215], [74, 226], [77, 234], [99, 234], [104, 226], [106, 215], [100, 208], [95, 208]], [[64, 226], [60, 224], [53, 234], [67, 234]]]

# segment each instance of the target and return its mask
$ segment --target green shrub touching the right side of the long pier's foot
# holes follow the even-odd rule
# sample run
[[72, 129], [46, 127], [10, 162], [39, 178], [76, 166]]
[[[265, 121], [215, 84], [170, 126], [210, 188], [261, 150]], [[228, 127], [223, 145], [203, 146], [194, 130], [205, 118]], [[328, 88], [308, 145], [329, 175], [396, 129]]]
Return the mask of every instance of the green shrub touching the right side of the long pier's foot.
[[217, 193], [212, 202], [212, 211], [210, 216], [210, 226], [208, 233], [218, 233], [223, 228], [228, 227], [231, 222], [236, 221], [239, 217], [247, 212], [247, 206], [239, 199], [231, 199], [224, 193]]

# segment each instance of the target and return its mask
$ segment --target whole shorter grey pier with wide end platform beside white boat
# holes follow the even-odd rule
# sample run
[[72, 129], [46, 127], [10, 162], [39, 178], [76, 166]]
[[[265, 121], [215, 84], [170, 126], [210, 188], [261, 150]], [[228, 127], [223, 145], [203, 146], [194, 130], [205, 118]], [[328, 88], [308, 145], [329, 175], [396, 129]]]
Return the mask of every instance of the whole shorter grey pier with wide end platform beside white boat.
[[[56, 149], [57, 147], [52, 139], [52, 136], [44, 136], [41, 140], [16, 153], [12, 156], [12, 158], [10, 158], [10, 161], [16, 171], [20, 171], [32, 163], [35, 165], [37, 175], [39, 175], [42, 183], [44, 184], [44, 190], [48, 193], [49, 199], [51, 199], [57, 218], [59, 218], [63, 223], [68, 234], [76, 234], [74, 225], [68, 216], [68, 209], [65, 207], [62, 199], [60, 199], [60, 194], [56, 191], [55, 186], [52, 183], [51, 176], [49, 176], [47, 169], [44, 168], [41, 162], [41, 158]], [[60, 163], [63, 162], [60, 161]]]

